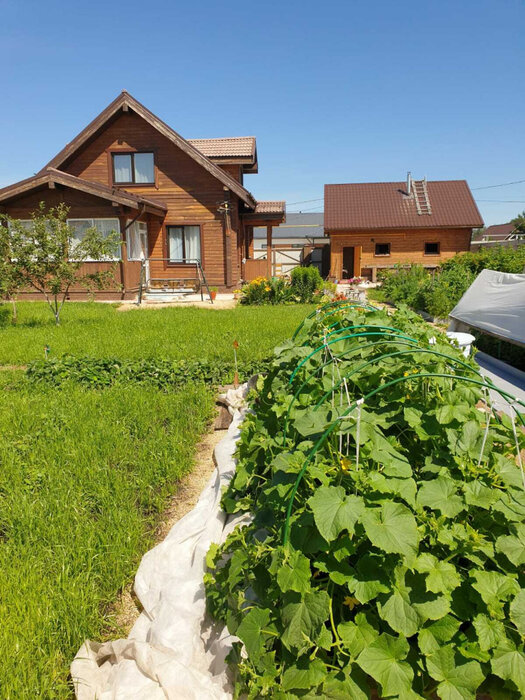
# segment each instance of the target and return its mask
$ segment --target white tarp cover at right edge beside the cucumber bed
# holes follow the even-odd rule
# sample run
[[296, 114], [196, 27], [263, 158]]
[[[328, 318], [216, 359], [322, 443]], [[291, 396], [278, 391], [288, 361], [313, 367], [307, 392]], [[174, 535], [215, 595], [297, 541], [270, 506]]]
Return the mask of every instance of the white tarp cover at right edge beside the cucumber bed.
[[525, 345], [525, 275], [482, 270], [449, 316], [450, 330], [477, 328]]

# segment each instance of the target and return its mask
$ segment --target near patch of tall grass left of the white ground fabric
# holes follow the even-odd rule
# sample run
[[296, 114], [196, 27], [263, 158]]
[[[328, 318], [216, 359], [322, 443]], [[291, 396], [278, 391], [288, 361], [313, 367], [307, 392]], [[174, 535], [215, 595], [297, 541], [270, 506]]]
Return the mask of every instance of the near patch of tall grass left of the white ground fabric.
[[0, 696], [70, 697], [69, 664], [111, 629], [108, 606], [191, 469], [213, 397], [3, 384]]

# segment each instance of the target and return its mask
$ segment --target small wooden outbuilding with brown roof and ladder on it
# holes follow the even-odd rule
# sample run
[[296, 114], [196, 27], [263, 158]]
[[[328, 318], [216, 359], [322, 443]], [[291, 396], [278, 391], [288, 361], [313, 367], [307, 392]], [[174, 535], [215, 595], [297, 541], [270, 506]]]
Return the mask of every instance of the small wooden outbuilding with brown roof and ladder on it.
[[469, 250], [483, 220], [465, 180], [325, 185], [330, 276], [367, 276], [420, 263], [437, 267]]

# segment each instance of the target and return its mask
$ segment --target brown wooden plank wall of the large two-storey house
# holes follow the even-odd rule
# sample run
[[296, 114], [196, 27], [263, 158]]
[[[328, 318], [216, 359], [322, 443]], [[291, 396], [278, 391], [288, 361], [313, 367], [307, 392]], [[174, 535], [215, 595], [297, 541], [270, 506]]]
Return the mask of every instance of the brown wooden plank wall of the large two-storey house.
[[[226, 197], [222, 183], [214, 178], [175, 144], [133, 112], [122, 114], [68, 164], [67, 172], [94, 182], [113, 186], [111, 153], [114, 151], [153, 151], [155, 153], [156, 184], [125, 187], [134, 194], [150, 197], [167, 205], [164, 221], [149, 217], [149, 255], [166, 258], [168, 254], [166, 227], [184, 224], [201, 226], [201, 254], [209, 284], [223, 287], [226, 283], [224, 220], [217, 208]], [[232, 170], [238, 166], [231, 166]], [[230, 172], [230, 166], [225, 166]], [[230, 172], [230, 174], [234, 174]], [[236, 195], [231, 195], [232, 286], [240, 279], [242, 245]], [[175, 269], [166, 262], [152, 261], [152, 276], [175, 276]], [[183, 275], [184, 276], [184, 275]]]

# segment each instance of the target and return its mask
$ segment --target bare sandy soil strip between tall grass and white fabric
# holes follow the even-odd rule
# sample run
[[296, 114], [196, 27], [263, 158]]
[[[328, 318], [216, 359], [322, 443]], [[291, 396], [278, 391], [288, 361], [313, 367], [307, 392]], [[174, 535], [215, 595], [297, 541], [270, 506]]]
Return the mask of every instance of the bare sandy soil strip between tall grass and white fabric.
[[[162, 515], [161, 522], [155, 531], [155, 546], [167, 536], [173, 525], [195, 506], [208, 479], [215, 470], [213, 452], [215, 446], [222, 440], [226, 430], [214, 430], [213, 425], [197, 446], [195, 466], [193, 470], [181, 479], [177, 492]], [[133, 592], [131, 582], [120, 594], [110, 613], [111, 631], [109, 636], [127, 637], [135, 621], [141, 613], [140, 603]]]

